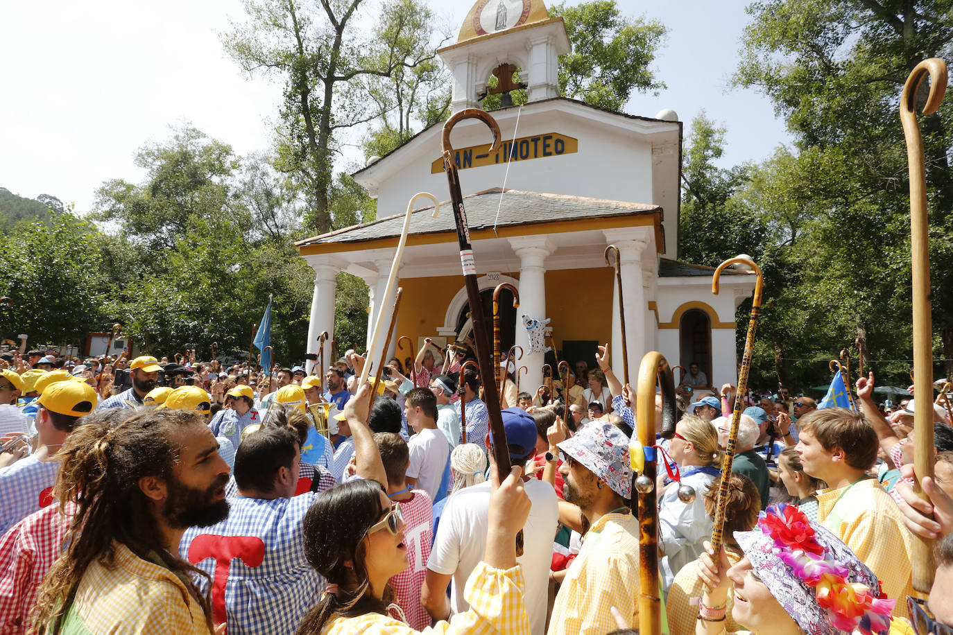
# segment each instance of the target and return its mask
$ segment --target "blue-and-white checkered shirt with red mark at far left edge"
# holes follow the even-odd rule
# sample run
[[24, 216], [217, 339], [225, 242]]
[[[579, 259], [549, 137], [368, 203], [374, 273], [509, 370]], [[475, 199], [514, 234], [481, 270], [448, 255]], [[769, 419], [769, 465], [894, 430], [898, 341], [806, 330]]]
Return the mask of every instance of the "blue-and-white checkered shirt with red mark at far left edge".
[[40, 507], [52, 503], [51, 491], [59, 473], [58, 461], [33, 456], [0, 468], [0, 536]]

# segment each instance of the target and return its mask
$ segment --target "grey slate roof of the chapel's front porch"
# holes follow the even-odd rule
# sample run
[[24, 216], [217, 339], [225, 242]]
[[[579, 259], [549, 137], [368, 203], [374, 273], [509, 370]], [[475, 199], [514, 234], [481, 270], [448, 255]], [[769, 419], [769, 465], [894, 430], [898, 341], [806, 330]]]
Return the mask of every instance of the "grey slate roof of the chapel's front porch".
[[[539, 192], [507, 189], [500, 206], [499, 188], [487, 189], [464, 196], [467, 223], [471, 231], [497, 227], [517, 227], [554, 221], [612, 218], [632, 214], [662, 214], [657, 205], [608, 201], [567, 194], [543, 194]], [[497, 219], [497, 208], [499, 215]], [[411, 214], [409, 235], [423, 235], [456, 231], [454, 212], [449, 201], [440, 203], [440, 213], [434, 218], [434, 206], [416, 209]], [[404, 226], [404, 214], [380, 218], [370, 223], [337, 229], [320, 236], [306, 238], [294, 243], [297, 248], [329, 243], [360, 243], [378, 238], [400, 235]]]

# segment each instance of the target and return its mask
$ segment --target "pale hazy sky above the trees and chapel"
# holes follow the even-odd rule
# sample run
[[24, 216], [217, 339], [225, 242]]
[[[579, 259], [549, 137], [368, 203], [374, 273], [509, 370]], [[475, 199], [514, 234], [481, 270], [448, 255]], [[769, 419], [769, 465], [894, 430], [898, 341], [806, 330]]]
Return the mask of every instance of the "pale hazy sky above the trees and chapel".
[[[472, 0], [429, 2], [456, 37]], [[687, 124], [705, 109], [728, 127], [725, 166], [759, 161], [788, 141], [763, 97], [726, 92], [745, 4], [618, 0], [626, 14], [644, 12], [669, 28], [655, 64], [668, 89], [635, 95], [626, 111], [652, 117], [675, 109], [687, 138]], [[5, 3], [0, 187], [51, 194], [84, 213], [103, 181], [141, 178], [136, 149], [186, 121], [239, 155], [268, 149], [280, 84], [250, 80], [225, 57], [219, 33], [230, 18], [244, 18], [239, 0]]]

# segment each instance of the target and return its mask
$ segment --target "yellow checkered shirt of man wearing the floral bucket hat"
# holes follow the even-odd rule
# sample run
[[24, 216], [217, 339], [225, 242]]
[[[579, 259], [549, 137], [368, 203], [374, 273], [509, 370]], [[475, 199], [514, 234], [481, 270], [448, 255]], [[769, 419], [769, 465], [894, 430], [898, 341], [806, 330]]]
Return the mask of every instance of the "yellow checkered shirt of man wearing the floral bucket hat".
[[579, 555], [559, 587], [547, 635], [605, 635], [618, 625], [615, 606], [639, 624], [639, 521], [611, 513], [586, 532]]

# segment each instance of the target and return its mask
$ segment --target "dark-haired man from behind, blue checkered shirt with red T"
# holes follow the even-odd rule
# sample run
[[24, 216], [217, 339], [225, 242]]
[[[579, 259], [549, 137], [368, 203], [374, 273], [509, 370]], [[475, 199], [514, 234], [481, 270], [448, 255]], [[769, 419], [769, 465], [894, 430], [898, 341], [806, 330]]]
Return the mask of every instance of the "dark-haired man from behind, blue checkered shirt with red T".
[[[238, 495], [229, 517], [185, 532], [179, 551], [209, 578], [213, 623], [234, 633], [292, 633], [316, 598], [321, 577], [305, 558], [301, 523], [319, 492], [295, 496], [301, 467], [298, 435], [266, 427], [248, 435], [235, 455]], [[211, 580], [210, 580], [211, 579]]]

